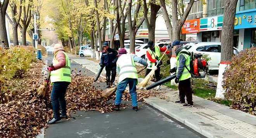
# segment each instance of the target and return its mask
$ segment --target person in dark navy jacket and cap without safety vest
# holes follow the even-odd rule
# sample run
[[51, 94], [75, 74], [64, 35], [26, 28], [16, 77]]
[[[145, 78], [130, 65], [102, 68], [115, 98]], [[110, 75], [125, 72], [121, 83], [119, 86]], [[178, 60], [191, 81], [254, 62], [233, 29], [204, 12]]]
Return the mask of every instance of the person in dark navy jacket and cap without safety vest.
[[100, 58], [100, 66], [105, 66], [107, 87], [111, 87], [116, 78], [116, 61], [118, 60], [118, 53], [115, 49], [109, 48], [107, 42], [104, 42], [102, 46], [104, 50], [102, 51], [102, 56]]

